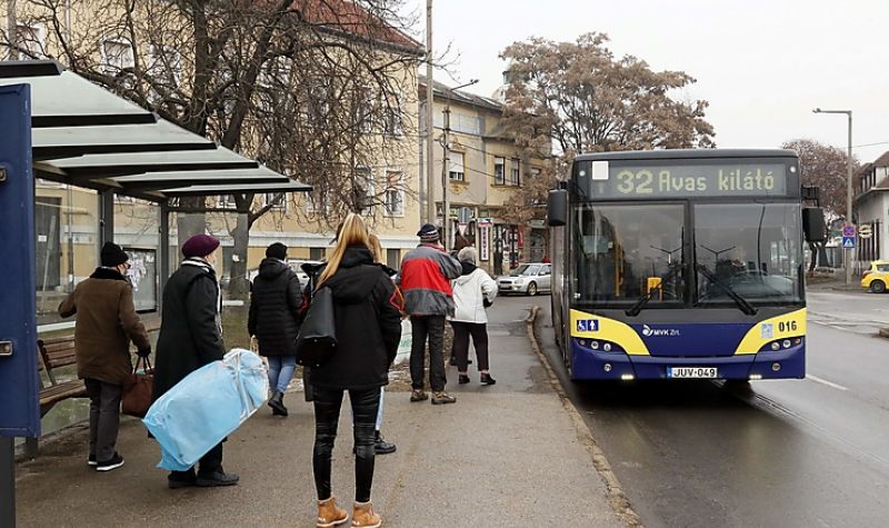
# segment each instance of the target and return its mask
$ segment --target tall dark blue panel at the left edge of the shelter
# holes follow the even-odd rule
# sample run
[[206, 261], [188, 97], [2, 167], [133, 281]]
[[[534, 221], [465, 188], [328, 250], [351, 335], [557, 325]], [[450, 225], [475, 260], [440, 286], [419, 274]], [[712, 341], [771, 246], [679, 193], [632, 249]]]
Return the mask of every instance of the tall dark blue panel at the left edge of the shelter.
[[0, 87], [0, 436], [40, 436], [34, 292], [34, 181], [31, 94], [27, 84]]

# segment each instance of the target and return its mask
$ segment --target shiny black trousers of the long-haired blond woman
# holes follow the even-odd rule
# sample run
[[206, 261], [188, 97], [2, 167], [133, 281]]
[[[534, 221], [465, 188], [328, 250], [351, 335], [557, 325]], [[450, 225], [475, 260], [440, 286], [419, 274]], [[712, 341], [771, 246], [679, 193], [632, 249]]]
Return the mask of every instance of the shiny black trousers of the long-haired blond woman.
[[[333, 442], [337, 439], [337, 427], [340, 421], [342, 390], [314, 388], [314, 449], [312, 450], [312, 470], [318, 500], [331, 497], [330, 466], [333, 455]], [[349, 390], [354, 420], [354, 500], [370, 500], [370, 488], [373, 485], [373, 440], [377, 426], [377, 411], [380, 408], [380, 388]]]

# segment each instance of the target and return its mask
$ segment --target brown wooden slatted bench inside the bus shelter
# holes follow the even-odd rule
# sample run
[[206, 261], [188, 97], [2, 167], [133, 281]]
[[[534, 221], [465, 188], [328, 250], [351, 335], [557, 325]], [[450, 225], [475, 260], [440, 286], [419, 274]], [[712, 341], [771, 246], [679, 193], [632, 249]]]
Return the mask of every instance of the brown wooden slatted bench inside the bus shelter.
[[[150, 317], [142, 320], [146, 330], [149, 332], [160, 329], [160, 318]], [[77, 365], [77, 353], [74, 352], [74, 336], [63, 336], [37, 340], [37, 350], [40, 361], [38, 370], [44, 371], [48, 383], [40, 377], [40, 417], [44, 417], [56, 404], [69, 398], [86, 398], [87, 386], [82, 379], [59, 381], [56, 377], [56, 369]], [[26, 452], [29, 457], [37, 454], [37, 438], [26, 439]]]

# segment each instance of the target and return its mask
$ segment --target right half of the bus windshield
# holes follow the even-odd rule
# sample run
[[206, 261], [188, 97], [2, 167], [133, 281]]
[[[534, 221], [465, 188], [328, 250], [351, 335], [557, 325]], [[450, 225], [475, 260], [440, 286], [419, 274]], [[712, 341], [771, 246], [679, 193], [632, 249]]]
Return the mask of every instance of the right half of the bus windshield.
[[710, 271], [697, 271], [696, 303], [731, 302], [725, 287], [751, 303], [801, 302], [800, 218], [798, 203], [696, 205], [696, 260]]

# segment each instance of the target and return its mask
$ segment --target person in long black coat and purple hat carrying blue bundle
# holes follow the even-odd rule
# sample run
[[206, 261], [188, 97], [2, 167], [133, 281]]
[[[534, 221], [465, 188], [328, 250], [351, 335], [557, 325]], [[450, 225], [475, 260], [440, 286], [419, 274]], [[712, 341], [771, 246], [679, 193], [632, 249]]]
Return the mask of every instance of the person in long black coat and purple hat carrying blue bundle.
[[[186, 260], [163, 289], [162, 320], [158, 337], [153, 398], [157, 400], [192, 371], [226, 355], [219, 317], [221, 297], [216, 278], [219, 240], [196, 235], [182, 245]], [[194, 468], [173, 471], [170, 488], [232, 486], [238, 476], [222, 470], [222, 444], [201, 457]]]

